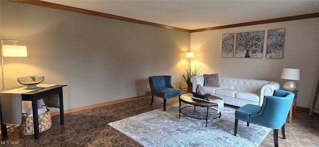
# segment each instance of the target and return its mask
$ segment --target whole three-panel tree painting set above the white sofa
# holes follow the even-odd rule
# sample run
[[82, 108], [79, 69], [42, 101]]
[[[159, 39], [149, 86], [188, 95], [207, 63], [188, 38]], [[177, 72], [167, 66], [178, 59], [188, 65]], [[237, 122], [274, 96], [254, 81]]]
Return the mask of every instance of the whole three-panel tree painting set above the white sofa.
[[[264, 38], [265, 31], [236, 33], [236, 40], [235, 33], [223, 34], [222, 57], [263, 58]], [[266, 58], [283, 58], [284, 42], [285, 29], [268, 30]]]

